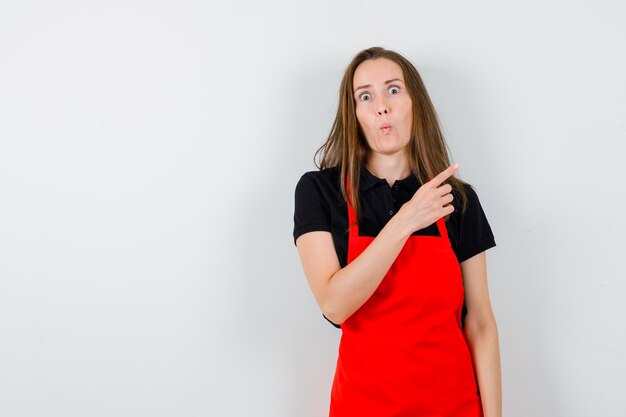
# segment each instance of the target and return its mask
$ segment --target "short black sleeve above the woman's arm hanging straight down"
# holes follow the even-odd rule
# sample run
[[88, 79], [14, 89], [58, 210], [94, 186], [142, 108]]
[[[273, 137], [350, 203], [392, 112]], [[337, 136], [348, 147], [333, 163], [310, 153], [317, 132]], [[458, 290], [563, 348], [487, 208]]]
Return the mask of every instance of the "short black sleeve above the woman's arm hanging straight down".
[[471, 185], [465, 186], [467, 208], [457, 218], [456, 254], [459, 263], [496, 246], [487, 215], [480, 204], [478, 194]]

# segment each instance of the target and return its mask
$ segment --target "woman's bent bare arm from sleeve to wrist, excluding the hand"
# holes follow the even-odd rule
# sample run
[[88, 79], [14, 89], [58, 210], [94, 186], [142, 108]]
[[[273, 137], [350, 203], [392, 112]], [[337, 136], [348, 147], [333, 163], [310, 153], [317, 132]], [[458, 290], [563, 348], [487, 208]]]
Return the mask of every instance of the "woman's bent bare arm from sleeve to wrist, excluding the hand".
[[410, 236], [400, 211], [352, 262], [341, 268], [329, 232], [308, 232], [296, 246], [317, 304], [333, 323], [341, 324], [374, 293]]

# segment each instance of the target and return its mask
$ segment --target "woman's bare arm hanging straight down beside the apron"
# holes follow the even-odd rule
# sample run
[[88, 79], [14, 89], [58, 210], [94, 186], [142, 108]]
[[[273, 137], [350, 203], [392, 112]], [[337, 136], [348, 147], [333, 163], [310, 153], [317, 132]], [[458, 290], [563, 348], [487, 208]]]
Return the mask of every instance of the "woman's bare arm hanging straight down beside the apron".
[[472, 353], [484, 415], [502, 417], [500, 346], [489, 300], [486, 258], [483, 251], [461, 262], [467, 307], [463, 333]]

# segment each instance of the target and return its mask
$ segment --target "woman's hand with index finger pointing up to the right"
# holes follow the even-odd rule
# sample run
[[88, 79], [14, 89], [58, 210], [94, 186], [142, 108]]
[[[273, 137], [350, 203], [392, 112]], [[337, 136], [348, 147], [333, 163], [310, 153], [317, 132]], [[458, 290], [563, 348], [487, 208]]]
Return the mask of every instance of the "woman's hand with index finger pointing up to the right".
[[[459, 164], [451, 165], [440, 172], [435, 178], [422, 185], [413, 197], [404, 203], [398, 211], [402, 216], [409, 234], [423, 229], [436, 222], [440, 217], [454, 211], [454, 206], [448, 204], [453, 200], [450, 184], [439, 186], [446, 178], [458, 170]], [[446, 205], [447, 204], [447, 205]]]

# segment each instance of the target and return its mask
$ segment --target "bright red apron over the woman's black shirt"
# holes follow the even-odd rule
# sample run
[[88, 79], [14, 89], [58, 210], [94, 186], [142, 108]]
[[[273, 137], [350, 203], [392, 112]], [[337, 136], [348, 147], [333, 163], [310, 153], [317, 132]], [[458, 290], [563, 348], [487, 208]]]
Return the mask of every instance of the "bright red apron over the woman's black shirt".
[[[348, 214], [350, 263], [374, 237], [359, 236], [349, 202]], [[376, 291], [341, 325], [330, 417], [483, 417], [461, 330], [461, 268], [443, 217], [437, 227], [440, 236], [408, 238]]]

